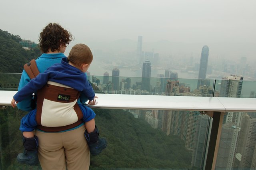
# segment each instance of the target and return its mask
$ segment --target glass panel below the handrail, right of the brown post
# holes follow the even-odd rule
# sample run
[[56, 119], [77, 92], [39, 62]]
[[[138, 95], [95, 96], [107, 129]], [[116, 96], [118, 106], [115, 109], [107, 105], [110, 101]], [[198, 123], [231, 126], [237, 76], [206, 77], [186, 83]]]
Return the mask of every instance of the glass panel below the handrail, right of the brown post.
[[256, 169], [256, 113], [224, 115], [216, 170]]

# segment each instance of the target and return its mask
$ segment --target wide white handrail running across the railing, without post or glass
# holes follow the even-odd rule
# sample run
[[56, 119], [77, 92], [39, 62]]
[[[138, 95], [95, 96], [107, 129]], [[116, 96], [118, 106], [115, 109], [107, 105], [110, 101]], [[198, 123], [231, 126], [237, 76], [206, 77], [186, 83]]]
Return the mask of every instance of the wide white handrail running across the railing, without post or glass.
[[[0, 91], [0, 105], [10, 105], [17, 91]], [[106, 109], [152, 109], [212, 112], [255, 112], [256, 98], [118, 95], [96, 93], [97, 105]]]

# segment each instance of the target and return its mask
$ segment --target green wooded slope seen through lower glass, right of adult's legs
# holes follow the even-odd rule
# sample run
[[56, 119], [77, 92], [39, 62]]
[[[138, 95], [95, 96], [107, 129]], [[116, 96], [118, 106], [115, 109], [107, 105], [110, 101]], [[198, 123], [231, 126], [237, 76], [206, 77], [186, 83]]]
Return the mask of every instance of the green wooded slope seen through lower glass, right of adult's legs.
[[114, 109], [94, 109], [100, 136], [108, 147], [91, 157], [90, 169], [98, 168], [189, 168], [192, 152], [177, 136], [153, 129], [143, 119]]

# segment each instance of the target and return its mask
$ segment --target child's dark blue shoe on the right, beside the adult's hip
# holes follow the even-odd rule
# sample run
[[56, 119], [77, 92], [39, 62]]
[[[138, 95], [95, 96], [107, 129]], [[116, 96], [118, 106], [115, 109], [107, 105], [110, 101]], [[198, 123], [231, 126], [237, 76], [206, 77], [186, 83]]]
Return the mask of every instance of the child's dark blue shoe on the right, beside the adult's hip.
[[96, 126], [93, 132], [88, 133], [85, 130], [84, 136], [93, 156], [100, 154], [107, 147], [107, 140], [105, 138], [98, 138], [99, 130]]

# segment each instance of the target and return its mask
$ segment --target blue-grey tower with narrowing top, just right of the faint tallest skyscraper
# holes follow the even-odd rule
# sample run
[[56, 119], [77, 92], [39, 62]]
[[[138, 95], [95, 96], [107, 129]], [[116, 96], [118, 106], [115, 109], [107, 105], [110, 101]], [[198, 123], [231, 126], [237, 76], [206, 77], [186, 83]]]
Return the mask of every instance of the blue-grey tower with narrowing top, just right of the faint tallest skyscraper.
[[142, 81], [141, 89], [150, 91], [150, 77], [151, 77], [151, 62], [149, 60], [144, 61], [142, 67]]

